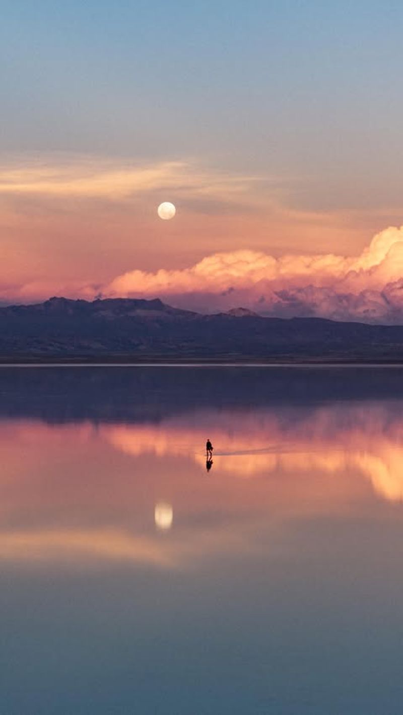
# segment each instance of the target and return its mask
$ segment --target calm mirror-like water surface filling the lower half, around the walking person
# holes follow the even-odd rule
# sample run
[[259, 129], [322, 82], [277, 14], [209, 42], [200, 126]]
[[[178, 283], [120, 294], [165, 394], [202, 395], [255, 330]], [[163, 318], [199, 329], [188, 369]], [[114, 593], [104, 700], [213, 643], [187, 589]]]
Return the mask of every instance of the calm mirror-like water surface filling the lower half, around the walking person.
[[401, 714], [402, 378], [0, 369], [1, 715]]

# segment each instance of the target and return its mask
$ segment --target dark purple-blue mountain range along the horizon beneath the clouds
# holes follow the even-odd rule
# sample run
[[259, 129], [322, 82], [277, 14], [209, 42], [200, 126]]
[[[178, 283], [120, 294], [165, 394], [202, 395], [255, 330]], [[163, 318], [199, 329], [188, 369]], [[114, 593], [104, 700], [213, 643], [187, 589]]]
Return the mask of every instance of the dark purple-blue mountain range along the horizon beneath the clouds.
[[0, 360], [397, 362], [403, 326], [218, 315], [161, 300], [68, 300], [0, 307]]

